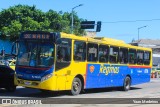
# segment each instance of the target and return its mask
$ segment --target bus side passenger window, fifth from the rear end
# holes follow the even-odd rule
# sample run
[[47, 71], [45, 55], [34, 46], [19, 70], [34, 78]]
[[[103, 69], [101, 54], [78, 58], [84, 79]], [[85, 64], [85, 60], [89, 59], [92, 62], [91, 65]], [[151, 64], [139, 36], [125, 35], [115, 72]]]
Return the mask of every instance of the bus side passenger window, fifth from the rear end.
[[119, 48], [118, 47], [110, 47], [110, 50], [109, 50], [110, 63], [118, 63], [118, 56], [119, 56]]

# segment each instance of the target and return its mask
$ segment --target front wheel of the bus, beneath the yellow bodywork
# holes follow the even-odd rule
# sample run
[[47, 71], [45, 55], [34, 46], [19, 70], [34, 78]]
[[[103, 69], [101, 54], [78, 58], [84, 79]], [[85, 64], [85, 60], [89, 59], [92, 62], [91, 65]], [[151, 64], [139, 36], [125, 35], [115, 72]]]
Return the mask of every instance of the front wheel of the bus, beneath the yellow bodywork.
[[82, 89], [82, 82], [79, 78], [74, 78], [71, 87], [71, 95], [78, 95]]

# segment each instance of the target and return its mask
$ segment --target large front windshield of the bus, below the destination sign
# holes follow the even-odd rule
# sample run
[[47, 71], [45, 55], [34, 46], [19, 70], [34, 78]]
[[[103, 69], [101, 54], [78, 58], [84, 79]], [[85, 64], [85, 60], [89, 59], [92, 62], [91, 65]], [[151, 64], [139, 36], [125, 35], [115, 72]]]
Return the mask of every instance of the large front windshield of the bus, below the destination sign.
[[38, 41], [20, 41], [17, 65], [49, 67], [54, 63], [54, 44]]

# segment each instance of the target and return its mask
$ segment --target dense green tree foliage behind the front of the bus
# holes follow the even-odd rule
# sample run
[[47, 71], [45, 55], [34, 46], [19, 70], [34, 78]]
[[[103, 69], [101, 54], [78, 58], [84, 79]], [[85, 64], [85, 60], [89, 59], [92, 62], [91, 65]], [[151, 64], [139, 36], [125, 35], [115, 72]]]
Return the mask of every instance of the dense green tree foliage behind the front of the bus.
[[[82, 35], [80, 19], [74, 13], [74, 33]], [[71, 13], [49, 10], [42, 12], [36, 6], [16, 5], [0, 12], [0, 32], [14, 40], [23, 31], [49, 31], [70, 33]]]

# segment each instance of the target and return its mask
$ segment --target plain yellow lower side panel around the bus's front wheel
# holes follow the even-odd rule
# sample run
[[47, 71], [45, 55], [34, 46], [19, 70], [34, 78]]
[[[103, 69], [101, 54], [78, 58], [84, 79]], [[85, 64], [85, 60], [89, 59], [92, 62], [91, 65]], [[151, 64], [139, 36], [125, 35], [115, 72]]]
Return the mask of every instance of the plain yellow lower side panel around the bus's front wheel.
[[56, 75], [57, 90], [71, 90], [72, 82], [77, 75], [81, 75], [85, 80], [86, 62], [71, 62], [70, 66], [56, 71]]

